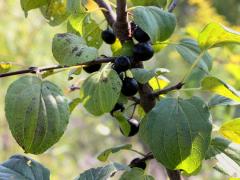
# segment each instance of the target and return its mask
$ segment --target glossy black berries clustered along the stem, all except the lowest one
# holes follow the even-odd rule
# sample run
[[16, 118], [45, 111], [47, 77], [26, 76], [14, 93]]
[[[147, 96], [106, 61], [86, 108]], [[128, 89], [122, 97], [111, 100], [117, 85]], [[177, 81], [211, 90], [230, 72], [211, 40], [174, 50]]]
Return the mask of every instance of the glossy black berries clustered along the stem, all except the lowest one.
[[[136, 43], [133, 47], [133, 56], [119, 56], [115, 59], [112, 65], [112, 68], [119, 74], [119, 77], [122, 80], [121, 93], [127, 97], [134, 96], [138, 92], [139, 85], [134, 78], [127, 77], [125, 72], [131, 69], [134, 63], [138, 61], [147, 61], [151, 59], [154, 54], [154, 50], [150, 44], [150, 37], [148, 34], [144, 32], [139, 26], [136, 26], [134, 23], [131, 23], [131, 31], [133, 38], [138, 41], [138, 43]], [[104, 30], [101, 36], [103, 41], [107, 44], [114, 44], [117, 39], [113, 30], [110, 28]], [[98, 71], [100, 68], [101, 64], [94, 64], [85, 66], [83, 69], [87, 73], [92, 73]], [[113, 115], [115, 111], [119, 110], [124, 111], [124, 106], [123, 104], [117, 103], [111, 111], [111, 114]], [[128, 122], [131, 127], [131, 131], [129, 132], [128, 136], [134, 136], [139, 130], [139, 123], [134, 119], [129, 119]]]

